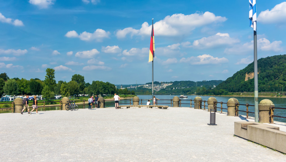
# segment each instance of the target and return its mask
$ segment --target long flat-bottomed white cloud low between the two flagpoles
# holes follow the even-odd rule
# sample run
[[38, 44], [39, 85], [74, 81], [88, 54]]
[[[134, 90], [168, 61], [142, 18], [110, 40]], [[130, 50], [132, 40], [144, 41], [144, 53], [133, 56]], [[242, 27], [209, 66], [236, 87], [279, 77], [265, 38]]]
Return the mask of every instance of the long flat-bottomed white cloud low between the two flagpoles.
[[181, 63], [190, 63], [192, 65], [204, 65], [204, 64], [221, 64], [221, 63], [226, 63], [229, 62], [228, 59], [225, 57], [223, 58], [218, 58], [218, 57], [213, 57], [211, 55], [199, 55], [197, 57], [188, 57], [188, 58], [182, 58], [180, 59]]

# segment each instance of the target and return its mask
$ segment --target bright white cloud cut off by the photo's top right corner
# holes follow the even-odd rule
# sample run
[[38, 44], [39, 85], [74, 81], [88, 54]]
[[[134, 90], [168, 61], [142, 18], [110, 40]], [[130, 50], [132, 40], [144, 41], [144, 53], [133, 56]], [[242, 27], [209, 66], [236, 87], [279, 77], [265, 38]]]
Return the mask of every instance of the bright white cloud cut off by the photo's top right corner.
[[261, 11], [258, 15], [257, 20], [260, 23], [271, 24], [271, 23], [285, 23], [286, 22], [286, 2], [282, 2], [275, 5], [273, 9], [269, 11]]

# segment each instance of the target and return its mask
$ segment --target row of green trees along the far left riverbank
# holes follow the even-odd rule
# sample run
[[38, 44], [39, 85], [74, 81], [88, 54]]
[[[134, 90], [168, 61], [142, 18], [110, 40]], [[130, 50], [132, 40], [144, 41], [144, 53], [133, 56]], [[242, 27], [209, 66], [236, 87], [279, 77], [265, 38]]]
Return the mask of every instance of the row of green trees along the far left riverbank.
[[71, 81], [55, 81], [55, 70], [46, 69], [44, 80], [38, 78], [24, 79], [12, 78], [7, 73], [0, 74], [0, 93], [6, 95], [42, 95], [45, 99], [53, 99], [55, 95], [61, 97], [78, 96], [79, 94], [88, 95], [112, 95], [117, 94], [135, 94], [134, 91], [125, 89], [117, 89], [114, 84], [103, 81], [92, 81], [92, 84], [86, 83], [84, 76], [74, 74]]

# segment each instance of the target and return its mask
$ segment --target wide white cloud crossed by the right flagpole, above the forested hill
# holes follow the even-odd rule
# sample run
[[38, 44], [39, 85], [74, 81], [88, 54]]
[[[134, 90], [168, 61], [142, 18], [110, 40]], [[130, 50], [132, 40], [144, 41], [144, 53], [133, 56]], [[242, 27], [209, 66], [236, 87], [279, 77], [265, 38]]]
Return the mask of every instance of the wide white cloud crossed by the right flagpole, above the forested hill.
[[[261, 38], [257, 40], [257, 49], [261, 51], [282, 52], [284, 50], [281, 44], [282, 41], [273, 41], [270, 43], [268, 39]], [[247, 52], [249, 51], [253, 51], [253, 41], [225, 49], [225, 53], [228, 54], [248, 54]]]

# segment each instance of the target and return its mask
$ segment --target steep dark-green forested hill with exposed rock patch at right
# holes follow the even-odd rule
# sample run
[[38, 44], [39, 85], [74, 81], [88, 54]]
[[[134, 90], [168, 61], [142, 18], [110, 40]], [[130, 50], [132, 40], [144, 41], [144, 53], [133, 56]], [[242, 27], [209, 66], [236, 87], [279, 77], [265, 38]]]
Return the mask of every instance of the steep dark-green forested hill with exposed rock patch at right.
[[[257, 60], [258, 91], [279, 90], [286, 85], [286, 55], [276, 55]], [[249, 64], [213, 90], [229, 92], [254, 91], [254, 65]]]

